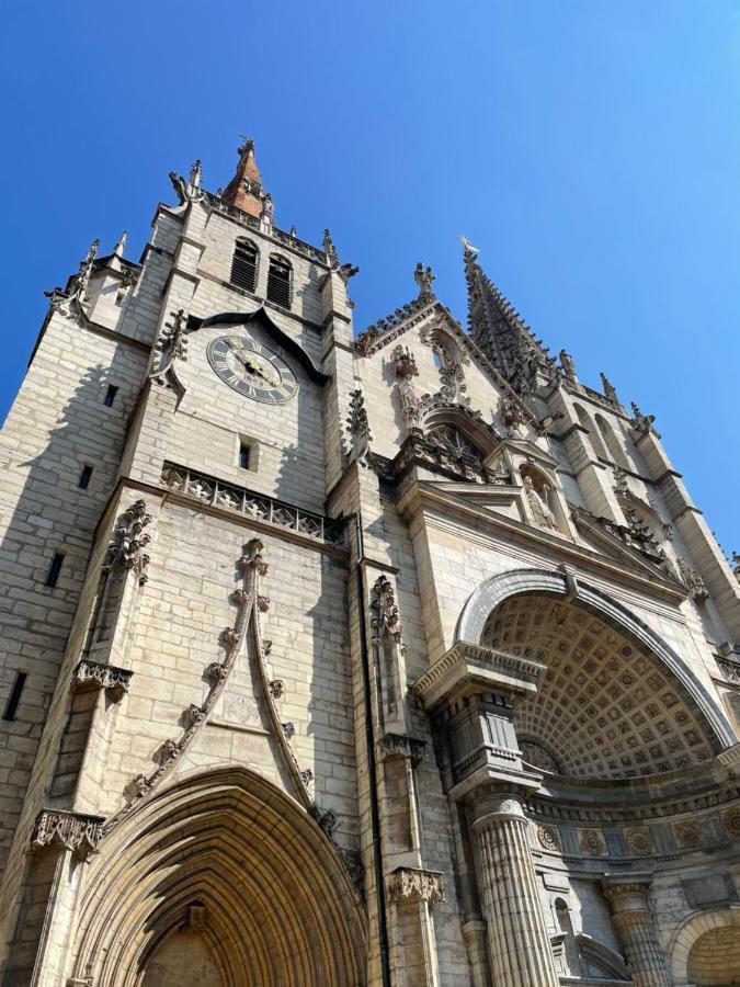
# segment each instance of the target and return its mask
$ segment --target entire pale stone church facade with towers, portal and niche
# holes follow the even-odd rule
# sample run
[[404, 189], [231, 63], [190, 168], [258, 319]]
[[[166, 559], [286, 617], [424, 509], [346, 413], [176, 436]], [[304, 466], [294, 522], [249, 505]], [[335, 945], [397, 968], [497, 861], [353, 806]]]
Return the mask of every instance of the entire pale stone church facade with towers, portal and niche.
[[653, 418], [467, 242], [466, 329], [420, 263], [356, 332], [250, 140], [171, 179], [0, 435], [0, 984], [740, 983], [740, 565]]

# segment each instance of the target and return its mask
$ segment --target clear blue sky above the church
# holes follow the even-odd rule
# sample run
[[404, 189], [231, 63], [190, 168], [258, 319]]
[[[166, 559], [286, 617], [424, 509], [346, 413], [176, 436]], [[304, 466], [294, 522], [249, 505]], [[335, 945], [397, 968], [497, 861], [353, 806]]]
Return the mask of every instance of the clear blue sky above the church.
[[417, 260], [464, 319], [464, 232], [740, 549], [740, 0], [47, 0], [3, 29], [0, 415], [43, 291], [93, 237], [138, 257], [168, 172], [215, 190], [249, 134], [278, 225], [361, 266], [358, 329]]

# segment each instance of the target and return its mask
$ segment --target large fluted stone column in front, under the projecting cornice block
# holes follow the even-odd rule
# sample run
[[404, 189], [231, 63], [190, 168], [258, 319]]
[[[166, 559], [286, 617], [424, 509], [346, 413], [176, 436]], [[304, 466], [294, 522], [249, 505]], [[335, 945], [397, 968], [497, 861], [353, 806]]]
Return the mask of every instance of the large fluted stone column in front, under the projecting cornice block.
[[493, 983], [557, 987], [521, 795], [485, 785], [470, 798]]

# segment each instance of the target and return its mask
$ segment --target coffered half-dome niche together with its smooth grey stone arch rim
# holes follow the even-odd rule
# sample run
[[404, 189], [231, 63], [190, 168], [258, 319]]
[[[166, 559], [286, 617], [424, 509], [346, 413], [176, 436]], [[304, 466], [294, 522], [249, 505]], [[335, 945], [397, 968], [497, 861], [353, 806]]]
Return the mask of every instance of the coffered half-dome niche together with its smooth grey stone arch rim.
[[709, 761], [735, 738], [696, 677], [616, 601], [558, 572], [494, 577], [468, 600], [457, 639], [546, 666], [517, 706], [525, 759], [574, 778], [636, 778]]

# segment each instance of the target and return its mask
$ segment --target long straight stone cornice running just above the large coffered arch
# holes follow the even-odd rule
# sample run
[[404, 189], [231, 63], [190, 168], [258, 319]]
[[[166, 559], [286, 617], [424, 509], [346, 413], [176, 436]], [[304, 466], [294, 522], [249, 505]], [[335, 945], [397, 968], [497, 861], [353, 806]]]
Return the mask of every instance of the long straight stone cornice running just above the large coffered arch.
[[437, 509], [455, 517], [462, 523], [473, 526], [478, 535], [487, 534], [505, 540], [509, 546], [512, 540], [524, 543], [540, 555], [549, 556], [556, 561], [569, 561], [577, 565], [582, 575], [593, 574], [617, 582], [627, 582], [634, 591], [647, 593], [653, 599], [662, 600], [678, 606], [685, 599], [683, 588], [664, 577], [638, 571], [636, 568], [577, 545], [563, 536], [553, 534], [544, 529], [536, 529], [522, 521], [493, 512], [470, 503], [465, 497], [451, 492], [428, 480], [415, 480], [409, 485], [399, 498], [398, 509], [401, 514], [413, 517], [423, 509]]

